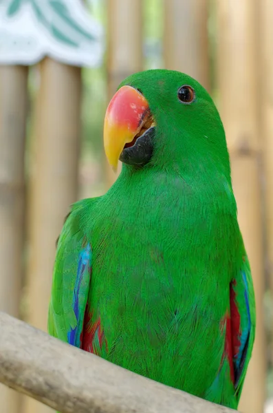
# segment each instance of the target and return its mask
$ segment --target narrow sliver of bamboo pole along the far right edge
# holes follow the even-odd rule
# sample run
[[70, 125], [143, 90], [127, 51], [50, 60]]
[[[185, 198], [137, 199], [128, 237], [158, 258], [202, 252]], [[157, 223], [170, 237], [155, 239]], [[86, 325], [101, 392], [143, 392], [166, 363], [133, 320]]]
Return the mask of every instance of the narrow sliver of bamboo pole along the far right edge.
[[[265, 165], [265, 212], [267, 229], [267, 271], [273, 297], [273, 3], [262, 0], [261, 7], [261, 67], [263, 71], [262, 120], [263, 120], [263, 159]], [[273, 326], [273, 324], [272, 324]], [[273, 348], [272, 357], [273, 360]]]

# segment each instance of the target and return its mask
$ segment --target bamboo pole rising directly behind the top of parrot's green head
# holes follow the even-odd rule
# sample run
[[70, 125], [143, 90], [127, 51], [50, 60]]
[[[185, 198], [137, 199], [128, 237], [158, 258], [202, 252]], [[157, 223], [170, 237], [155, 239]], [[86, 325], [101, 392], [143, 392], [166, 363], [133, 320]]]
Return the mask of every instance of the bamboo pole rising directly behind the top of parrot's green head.
[[208, 0], [165, 0], [166, 69], [193, 76], [210, 89], [208, 67]]

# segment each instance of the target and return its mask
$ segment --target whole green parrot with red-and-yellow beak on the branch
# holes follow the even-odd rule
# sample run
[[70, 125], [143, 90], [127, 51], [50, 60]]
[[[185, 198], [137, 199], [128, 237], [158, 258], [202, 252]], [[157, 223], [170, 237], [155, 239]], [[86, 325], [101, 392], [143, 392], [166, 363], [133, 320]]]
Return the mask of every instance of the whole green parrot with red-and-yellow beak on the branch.
[[186, 74], [133, 74], [109, 103], [104, 142], [122, 172], [67, 216], [49, 332], [236, 409], [255, 304], [217, 109]]

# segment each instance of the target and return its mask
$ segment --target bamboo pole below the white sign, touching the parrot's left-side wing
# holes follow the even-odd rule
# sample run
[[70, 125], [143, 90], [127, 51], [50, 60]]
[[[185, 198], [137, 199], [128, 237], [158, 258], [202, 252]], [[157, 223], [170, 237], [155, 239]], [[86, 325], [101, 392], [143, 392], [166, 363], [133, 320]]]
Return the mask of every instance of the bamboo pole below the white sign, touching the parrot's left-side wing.
[[[80, 68], [44, 59], [34, 125], [34, 168], [28, 213], [29, 321], [47, 330], [56, 239], [77, 198], [80, 142]], [[47, 412], [26, 401], [25, 413]]]

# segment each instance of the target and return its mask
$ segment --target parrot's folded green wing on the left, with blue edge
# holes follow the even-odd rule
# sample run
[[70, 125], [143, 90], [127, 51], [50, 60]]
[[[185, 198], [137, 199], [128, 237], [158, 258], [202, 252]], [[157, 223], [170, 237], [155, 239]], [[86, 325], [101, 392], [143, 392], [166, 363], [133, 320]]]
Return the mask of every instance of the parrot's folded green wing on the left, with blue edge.
[[[91, 245], [80, 231], [80, 211], [88, 201], [77, 202], [67, 215], [57, 241], [48, 317], [50, 335], [81, 347], [85, 307], [91, 278]], [[91, 202], [92, 201], [92, 202]]]

